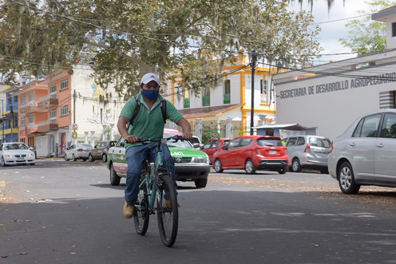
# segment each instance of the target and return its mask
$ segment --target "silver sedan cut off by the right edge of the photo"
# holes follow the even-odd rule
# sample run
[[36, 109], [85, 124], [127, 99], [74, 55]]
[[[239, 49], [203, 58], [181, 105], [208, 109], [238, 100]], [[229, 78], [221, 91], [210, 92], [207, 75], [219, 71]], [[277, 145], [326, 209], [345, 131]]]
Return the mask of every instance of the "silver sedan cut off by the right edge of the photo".
[[396, 110], [358, 117], [330, 147], [329, 173], [345, 194], [361, 185], [396, 187]]

